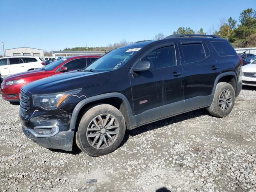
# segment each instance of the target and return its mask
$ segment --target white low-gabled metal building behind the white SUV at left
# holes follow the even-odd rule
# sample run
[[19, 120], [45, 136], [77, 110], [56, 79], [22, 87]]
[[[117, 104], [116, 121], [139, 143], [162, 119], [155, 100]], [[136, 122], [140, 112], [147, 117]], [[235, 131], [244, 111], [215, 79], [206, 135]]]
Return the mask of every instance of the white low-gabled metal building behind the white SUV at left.
[[13, 49], [6, 49], [6, 56], [37, 56], [43, 57], [44, 50], [42, 49], [35, 49], [30, 47], [20, 47], [20, 48], [13, 48]]

